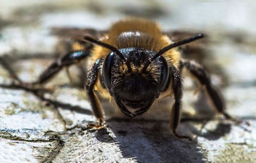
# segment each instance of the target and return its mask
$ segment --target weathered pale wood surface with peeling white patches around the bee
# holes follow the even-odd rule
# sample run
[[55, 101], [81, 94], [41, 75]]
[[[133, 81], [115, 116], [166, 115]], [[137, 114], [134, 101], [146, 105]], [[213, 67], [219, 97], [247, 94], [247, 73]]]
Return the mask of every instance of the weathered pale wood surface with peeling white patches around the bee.
[[[255, 3], [136, 2], [1, 2], [1, 60], [8, 61], [22, 80], [33, 81], [64, 53], [63, 43], [51, 35], [52, 27], [106, 29], [127, 15], [154, 18], [164, 29], [209, 35], [203, 51], [186, 57], [208, 68], [228, 112], [251, 126], [216, 115], [202, 92], [194, 96], [194, 83], [186, 77], [179, 132], [193, 136], [193, 142], [170, 135], [170, 99], [136, 119], [122, 117], [103, 102], [108, 126], [88, 129], [87, 123], [95, 119], [86, 93], [70, 84], [64, 71], [47, 84], [54, 92], [46, 93], [51, 102], [46, 105], [32, 92], [11, 87], [1, 63], [0, 162], [256, 162]], [[71, 68], [75, 82], [79, 70]]]

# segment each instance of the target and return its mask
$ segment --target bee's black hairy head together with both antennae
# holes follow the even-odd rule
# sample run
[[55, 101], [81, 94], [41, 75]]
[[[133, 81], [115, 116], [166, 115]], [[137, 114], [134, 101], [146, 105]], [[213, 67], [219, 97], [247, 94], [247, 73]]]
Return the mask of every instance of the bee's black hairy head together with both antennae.
[[84, 39], [112, 51], [103, 62], [103, 81], [121, 112], [136, 117], [147, 111], [166, 87], [169, 69], [162, 54], [203, 37], [198, 34], [171, 43], [159, 52], [141, 48], [117, 49], [89, 36]]

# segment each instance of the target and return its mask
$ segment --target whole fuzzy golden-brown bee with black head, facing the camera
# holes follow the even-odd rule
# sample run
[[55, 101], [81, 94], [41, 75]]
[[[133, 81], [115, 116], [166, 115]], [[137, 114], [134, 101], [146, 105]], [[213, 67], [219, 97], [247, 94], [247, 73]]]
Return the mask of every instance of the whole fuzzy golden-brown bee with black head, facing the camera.
[[157, 101], [174, 97], [170, 130], [178, 138], [190, 139], [176, 132], [182, 109], [180, 73], [183, 68], [204, 86], [214, 108], [231, 119], [225, 112], [222, 95], [212, 85], [209, 74], [198, 63], [181, 58], [181, 51], [178, 49], [181, 45], [202, 39], [204, 34], [174, 42], [161, 31], [156, 22], [143, 18], [126, 18], [115, 22], [108, 31], [101, 32], [96, 38], [92, 36], [96, 35], [95, 30], [87, 31], [89, 34], [79, 42], [81, 45], [90, 42], [89, 46], [53, 61], [32, 84], [44, 84], [64, 67], [84, 59], [89, 60], [93, 64], [88, 64], [85, 88], [97, 119], [96, 123], [89, 124], [90, 127], [101, 128], [105, 123], [96, 91], [113, 100], [128, 117], [143, 115]]

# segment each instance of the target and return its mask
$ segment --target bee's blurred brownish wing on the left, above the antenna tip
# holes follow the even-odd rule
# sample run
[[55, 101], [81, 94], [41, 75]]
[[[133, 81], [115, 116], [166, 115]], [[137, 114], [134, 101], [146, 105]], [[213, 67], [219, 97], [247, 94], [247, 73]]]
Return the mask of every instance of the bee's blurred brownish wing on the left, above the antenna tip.
[[99, 39], [105, 33], [106, 31], [104, 30], [95, 30], [92, 28], [52, 28], [51, 30], [51, 34], [57, 35], [60, 39], [71, 39], [74, 41], [82, 41], [86, 35]]

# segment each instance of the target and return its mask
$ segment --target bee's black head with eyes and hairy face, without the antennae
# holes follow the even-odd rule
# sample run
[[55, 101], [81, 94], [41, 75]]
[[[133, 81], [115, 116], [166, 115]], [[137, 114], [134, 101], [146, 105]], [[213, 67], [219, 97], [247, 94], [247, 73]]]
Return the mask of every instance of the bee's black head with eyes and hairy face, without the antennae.
[[[150, 108], [162, 91], [163, 84], [166, 85], [168, 77], [164, 78], [164, 83], [161, 80], [163, 66], [167, 67], [167, 63], [163, 61], [163, 57], [155, 59], [147, 72], [142, 73], [145, 62], [155, 52], [138, 48], [119, 51], [130, 61], [132, 71], [129, 72], [123, 60], [112, 53], [103, 64], [103, 79], [121, 112], [126, 116], [136, 117]], [[165, 72], [164, 76], [166, 73], [168, 72]]]

